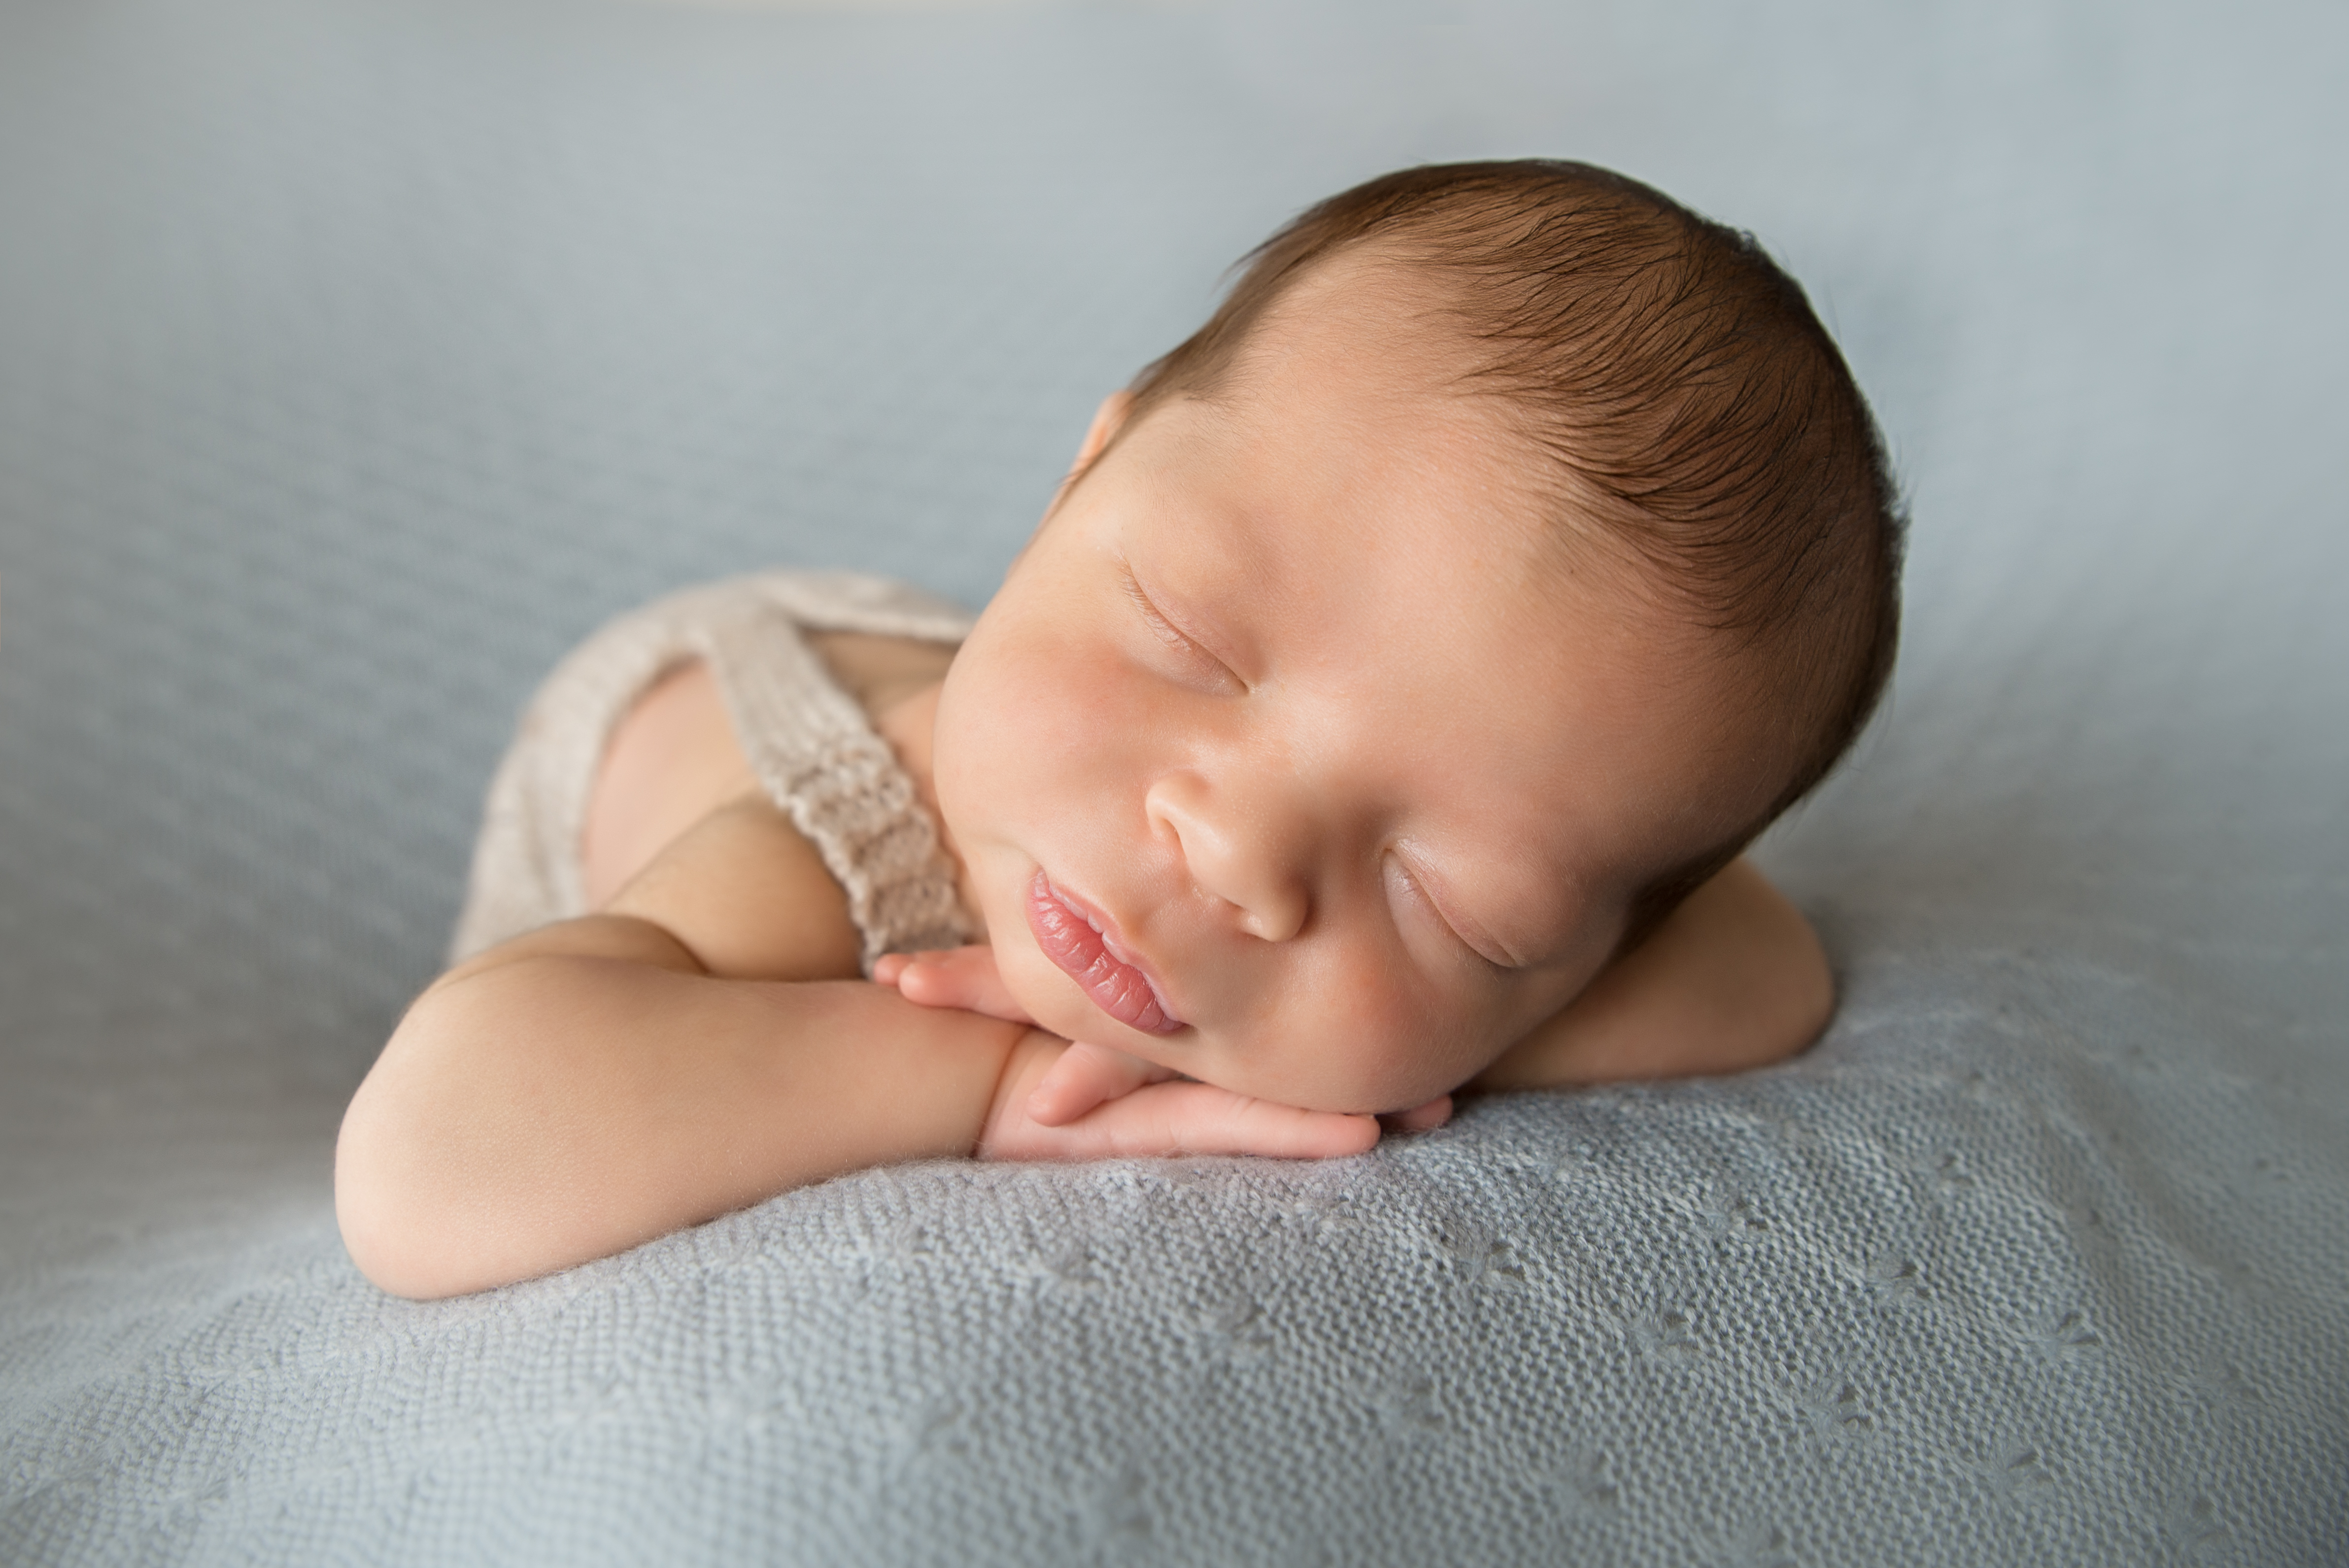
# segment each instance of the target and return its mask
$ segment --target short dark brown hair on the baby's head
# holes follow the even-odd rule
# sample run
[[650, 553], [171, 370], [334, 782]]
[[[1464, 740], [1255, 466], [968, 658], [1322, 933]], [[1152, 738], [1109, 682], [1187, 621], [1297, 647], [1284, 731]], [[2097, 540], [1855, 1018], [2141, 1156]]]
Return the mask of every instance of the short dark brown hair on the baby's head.
[[1891, 674], [1903, 512], [1884, 439], [1802, 289], [1755, 242], [1590, 164], [1402, 169], [1306, 209], [1221, 305], [1135, 378], [1132, 430], [1212, 397], [1315, 265], [1377, 244], [1435, 279], [1553, 460], [1567, 526], [1597, 521], [1785, 714], [1769, 810], [1635, 899], [1637, 941], [1851, 749]]

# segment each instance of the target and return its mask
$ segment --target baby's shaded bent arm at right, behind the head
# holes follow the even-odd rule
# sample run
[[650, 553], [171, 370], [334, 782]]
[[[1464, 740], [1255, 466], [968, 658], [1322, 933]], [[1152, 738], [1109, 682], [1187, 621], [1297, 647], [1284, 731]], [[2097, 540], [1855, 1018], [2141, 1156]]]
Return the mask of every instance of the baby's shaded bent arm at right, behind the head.
[[1811, 1045], [1832, 1012], [1811, 922], [1738, 859], [1468, 1089], [1759, 1068]]

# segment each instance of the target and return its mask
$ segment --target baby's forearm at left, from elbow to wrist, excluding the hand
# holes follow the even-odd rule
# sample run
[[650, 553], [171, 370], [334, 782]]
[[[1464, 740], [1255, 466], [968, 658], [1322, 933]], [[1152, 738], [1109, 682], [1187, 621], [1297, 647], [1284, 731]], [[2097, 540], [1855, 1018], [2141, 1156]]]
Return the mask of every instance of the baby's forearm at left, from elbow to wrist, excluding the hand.
[[709, 979], [641, 920], [550, 927], [385, 1045], [336, 1150], [343, 1239], [376, 1284], [453, 1296], [965, 1155], [1024, 1033], [862, 981]]

